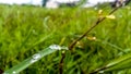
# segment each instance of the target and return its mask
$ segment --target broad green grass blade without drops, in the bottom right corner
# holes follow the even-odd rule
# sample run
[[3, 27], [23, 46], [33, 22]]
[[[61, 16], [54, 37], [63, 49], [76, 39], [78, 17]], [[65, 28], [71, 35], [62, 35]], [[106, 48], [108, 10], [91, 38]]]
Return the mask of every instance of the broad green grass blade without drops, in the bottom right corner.
[[124, 69], [131, 67], [131, 53], [124, 54], [118, 59], [110, 61], [107, 65], [97, 69], [96, 72], [111, 72], [111, 71], [120, 71]]

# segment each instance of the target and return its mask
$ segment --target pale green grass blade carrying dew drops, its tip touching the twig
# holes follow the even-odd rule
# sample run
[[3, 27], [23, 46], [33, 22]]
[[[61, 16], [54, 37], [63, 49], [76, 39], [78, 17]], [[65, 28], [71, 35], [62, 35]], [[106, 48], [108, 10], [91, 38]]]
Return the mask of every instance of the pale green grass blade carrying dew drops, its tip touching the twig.
[[34, 55], [27, 58], [26, 60], [22, 61], [20, 64], [13, 66], [10, 70], [7, 70], [3, 74], [17, 74], [21, 71], [23, 71], [24, 69], [26, 69], [27, 66], [29, 66], [31, 64], [37, 62], [38, 60], [40, 60], [41, 58], [44, 58], [45, 55], [48, 55], [57, 50], [61, 50], [61, 49], [66, 49], [68, 50], [67, 47], [60, 47], [58, 45], [51, 45], [48, 48], [43, 49], [41, 51], [39, 51], [38, 53], [35, 53]]

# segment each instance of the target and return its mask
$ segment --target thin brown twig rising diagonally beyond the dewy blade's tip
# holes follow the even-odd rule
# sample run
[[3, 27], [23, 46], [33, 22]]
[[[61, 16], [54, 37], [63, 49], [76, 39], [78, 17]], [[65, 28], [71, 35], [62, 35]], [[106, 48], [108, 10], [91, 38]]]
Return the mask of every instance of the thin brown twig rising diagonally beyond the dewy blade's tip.
[[[108, 13], [108, 15], [112, 14], [114, 12], [116, 12], [120, 7], [117, 7], [115, 8], [112, 11], [110, 11]], [[80, 41], [81, 39], [83, 39], [92, 29], [94, 29], [97, 25], [99, 25], [99, 23], [102, 23], [104, 20], [106, 20], [106, 17], [98, 17], [97, 21], [94, 23], [94, 25], [87, 29], [81, 37], [79, 37], [78, 39], [75, 39], [74, 41], [72, 41], [70, 45], [69, 45], [69, 50], [72, 50], [73, 47], [76, 45], [78, 41]], [[63, 61], [64, 61], [64, 58], [66, 58], [66, 52], [62, 53], [62, 58], [60, 60], [60, 63], [59, 63], [59, 73], [62, 74], [63, 73]], [[96, 73], [97, 71], [95, 71]], [[94, 72], [93, 72], [94, 73]]]

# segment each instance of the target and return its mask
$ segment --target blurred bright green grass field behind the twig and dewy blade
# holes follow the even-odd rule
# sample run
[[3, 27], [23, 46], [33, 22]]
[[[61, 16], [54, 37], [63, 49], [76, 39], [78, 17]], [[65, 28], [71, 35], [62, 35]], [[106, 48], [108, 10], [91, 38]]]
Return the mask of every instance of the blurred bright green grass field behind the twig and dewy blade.
[[[99, 9], [98, 9], [99, 10]], [[5, 71], [50, 46], [69, 46], [97, 20], [98, 10], [0, 5], [0, 69]], [[106, 15], [111, 9], [103, 9]], [[121, 8], [67, 52], [64, 74], [88, 74], [131, 52], [131, 9]], [[96, 38], [93, 40], [92, 38]], [[58, 74], [61, 51], [53, 52], [21, 74]], [[106, 74], [130, 74], [131, 70]]]

